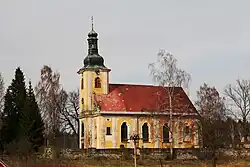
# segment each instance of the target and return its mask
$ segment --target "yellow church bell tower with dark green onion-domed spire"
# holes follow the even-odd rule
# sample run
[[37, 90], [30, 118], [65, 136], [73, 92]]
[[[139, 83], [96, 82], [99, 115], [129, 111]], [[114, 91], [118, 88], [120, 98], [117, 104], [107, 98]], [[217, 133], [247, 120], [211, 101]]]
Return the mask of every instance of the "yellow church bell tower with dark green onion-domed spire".
[[83, 148], [84, 145], [86, 145], [86, 143], [83, 142], [86, 139], [86, 135], [84, 136], [84, 131], [86, 131], [86, 126], [87, 126], [87, 123], [85, 123], [86, 126], [84, 126], [84, 122], [87, 121], [85, 115], [96, 112], [97, 110], [96, 106], [94, 106], [94, 96], [96, 94], [108, 94], [109, 92], [109, 72], [111, 70], [104, 65], [104, 59], [98, 53], [97, 36], [98, 34], [94, 31], [93, 17], [92, 17], [92, 29], [88, 33], [88, 39], [87, 39], [88, 55], [85, 57], [83, 61], [83, 67], [78, 71], [78, 74], [80, 75], [80, 89], [79, 89], [79, 107], [80, 107], [79, 147], [80, 148]]

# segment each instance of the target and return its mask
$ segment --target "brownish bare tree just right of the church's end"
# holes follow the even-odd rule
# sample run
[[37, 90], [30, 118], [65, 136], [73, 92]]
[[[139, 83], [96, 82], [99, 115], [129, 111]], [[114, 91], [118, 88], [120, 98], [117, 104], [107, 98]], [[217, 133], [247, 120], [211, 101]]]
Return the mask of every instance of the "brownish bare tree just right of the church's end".
[[215, 166], [217, 149], [225, 147], [230, 140], [230, 128], [225, 121], [225, 99], [220, 97], [215, 87], [204, 83], [197, 91], [195, 105], [200, 114], [203, 146], [212, 153], [213, 165]]

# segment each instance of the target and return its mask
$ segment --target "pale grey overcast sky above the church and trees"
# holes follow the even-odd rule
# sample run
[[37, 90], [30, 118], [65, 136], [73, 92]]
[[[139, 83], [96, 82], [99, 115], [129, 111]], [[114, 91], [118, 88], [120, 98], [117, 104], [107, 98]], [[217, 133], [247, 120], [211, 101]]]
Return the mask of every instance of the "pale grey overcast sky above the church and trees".
[[192, 76], [191, 99], [204, 82], [220, 91], [250, 78], [250, 1], [1, 0], [0, 72], [6, 86], [20, 66], [35, 85], [40, 69], [79, 87], [90, 18], [112, 83], [152, 84], [148, 63], [159, 49], [174, 54]]

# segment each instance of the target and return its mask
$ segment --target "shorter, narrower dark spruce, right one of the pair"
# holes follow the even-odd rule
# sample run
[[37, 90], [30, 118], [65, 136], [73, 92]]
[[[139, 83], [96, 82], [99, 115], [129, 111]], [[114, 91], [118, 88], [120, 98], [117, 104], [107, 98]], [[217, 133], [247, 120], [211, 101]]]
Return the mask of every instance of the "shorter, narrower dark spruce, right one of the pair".
[[35, 99], [31, 82], [27, 90], [26, 106], [23, 119], [26, 136], [31, 143], [33, 151], [38, 151], [44, 144], [44, 123]]

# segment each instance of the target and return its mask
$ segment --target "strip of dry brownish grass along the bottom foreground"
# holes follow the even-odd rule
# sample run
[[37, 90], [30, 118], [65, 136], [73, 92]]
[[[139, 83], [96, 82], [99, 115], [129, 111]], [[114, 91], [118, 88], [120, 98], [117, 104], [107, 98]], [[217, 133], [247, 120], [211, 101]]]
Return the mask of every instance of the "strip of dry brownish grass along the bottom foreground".
[[[6, 160], [8, 167], [133, 167], [132, 160], [84, 160], [69, 161], [61, 160], [57, 162], [35, 161], [35, 160]], [[162, 165], [161, 165], [162, 164]], [[137, 167], [210, 167], [211, 162], [206, 165], [202, 161], [157, 161], [157, 160], [138, 160]], [[218, 167], [250, 167], [250, 161], [239, 160], [232, 162], [218, 161]]]

